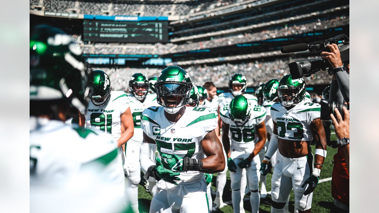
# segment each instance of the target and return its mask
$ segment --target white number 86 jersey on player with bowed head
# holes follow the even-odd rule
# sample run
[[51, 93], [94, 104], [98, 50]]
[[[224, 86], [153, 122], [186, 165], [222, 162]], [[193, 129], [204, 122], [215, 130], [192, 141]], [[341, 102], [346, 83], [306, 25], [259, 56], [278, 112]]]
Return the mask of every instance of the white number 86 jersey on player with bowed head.
[[231, 136], [230, 157], [247, 158], [255, 146], [255, 126], [265, 121], [266, 110], [260, 105], [252, 106], [250, 119], [243, 126], [238, 126], [230, 119], [228, 110], [220, 110], [222, 122], [229, 124]]

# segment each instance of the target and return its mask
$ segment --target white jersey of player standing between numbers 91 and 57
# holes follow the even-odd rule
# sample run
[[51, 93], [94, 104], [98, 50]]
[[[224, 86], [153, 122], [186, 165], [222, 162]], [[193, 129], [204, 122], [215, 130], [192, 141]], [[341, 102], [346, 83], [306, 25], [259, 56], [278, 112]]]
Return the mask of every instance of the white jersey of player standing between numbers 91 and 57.
[[140, 102], [134, 96], [129, 96], [130, 112], [132, 112], [134, 123], [134, 135], [131, 140], [142, 143], [143, 134], [141, 129], [142, 112], [149, 107], [159, 106], [157, 94], [147, 94], [144, 102]]

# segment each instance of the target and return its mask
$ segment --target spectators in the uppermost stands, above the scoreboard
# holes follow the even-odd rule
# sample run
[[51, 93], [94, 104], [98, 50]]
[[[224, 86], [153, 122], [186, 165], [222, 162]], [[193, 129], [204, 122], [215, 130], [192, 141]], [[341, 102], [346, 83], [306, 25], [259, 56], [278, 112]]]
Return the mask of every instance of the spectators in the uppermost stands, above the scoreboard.
[[[76, 0], [44, 0], [45, 11], [70, 13], [69, 8], [74, 8]], [[193, 0], [193, 1], [159, 1], [159, 2], [137, 2], [137, 1], [112, 1], [109, 0], [79, 0], [78, 13], [103, 15], [112, 3], [111, 13], [113, 15], [135, 15], [133, 12], [144, 12], [142, 16], [168, 16], [166, 11], [175, 11], [174, 15], [186, 15], [213, 9], [219, 6], [225, 6], [232, 3], [241, 2], [241, 0]], [[39, 0], [30, 0], [30, 9], [32, 5], [39, 5]]]

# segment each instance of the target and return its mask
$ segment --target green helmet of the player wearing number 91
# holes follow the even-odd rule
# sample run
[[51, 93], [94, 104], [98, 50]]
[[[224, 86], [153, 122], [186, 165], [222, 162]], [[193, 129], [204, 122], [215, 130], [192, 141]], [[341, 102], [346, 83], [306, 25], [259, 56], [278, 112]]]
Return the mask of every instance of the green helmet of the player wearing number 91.
[[96, 106], [104, 106], [111, 98], [111, 81], [103, 70], [93, 70], [89, 74], [89, 83], [94, 88], [91, 101]]

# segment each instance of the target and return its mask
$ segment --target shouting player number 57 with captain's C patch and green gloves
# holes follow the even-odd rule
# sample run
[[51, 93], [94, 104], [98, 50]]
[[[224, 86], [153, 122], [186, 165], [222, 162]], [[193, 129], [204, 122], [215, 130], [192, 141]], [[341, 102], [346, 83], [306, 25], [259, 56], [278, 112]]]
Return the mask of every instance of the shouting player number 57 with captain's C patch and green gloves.
[[[214, 131], [215, 114], [205, 107], [185, 107], [192, 86], [184, 69], [166, 67], [155, 84], [162, 107], [149, 107], [142, 114], [141, 168], [145, 179], [158, 180], [150, 213], [204, 211], [208, 208], [204, 172], [225, 168], [222, 145]], [[161, 157], [157, 163], [151, 155], [155, 144]]]

